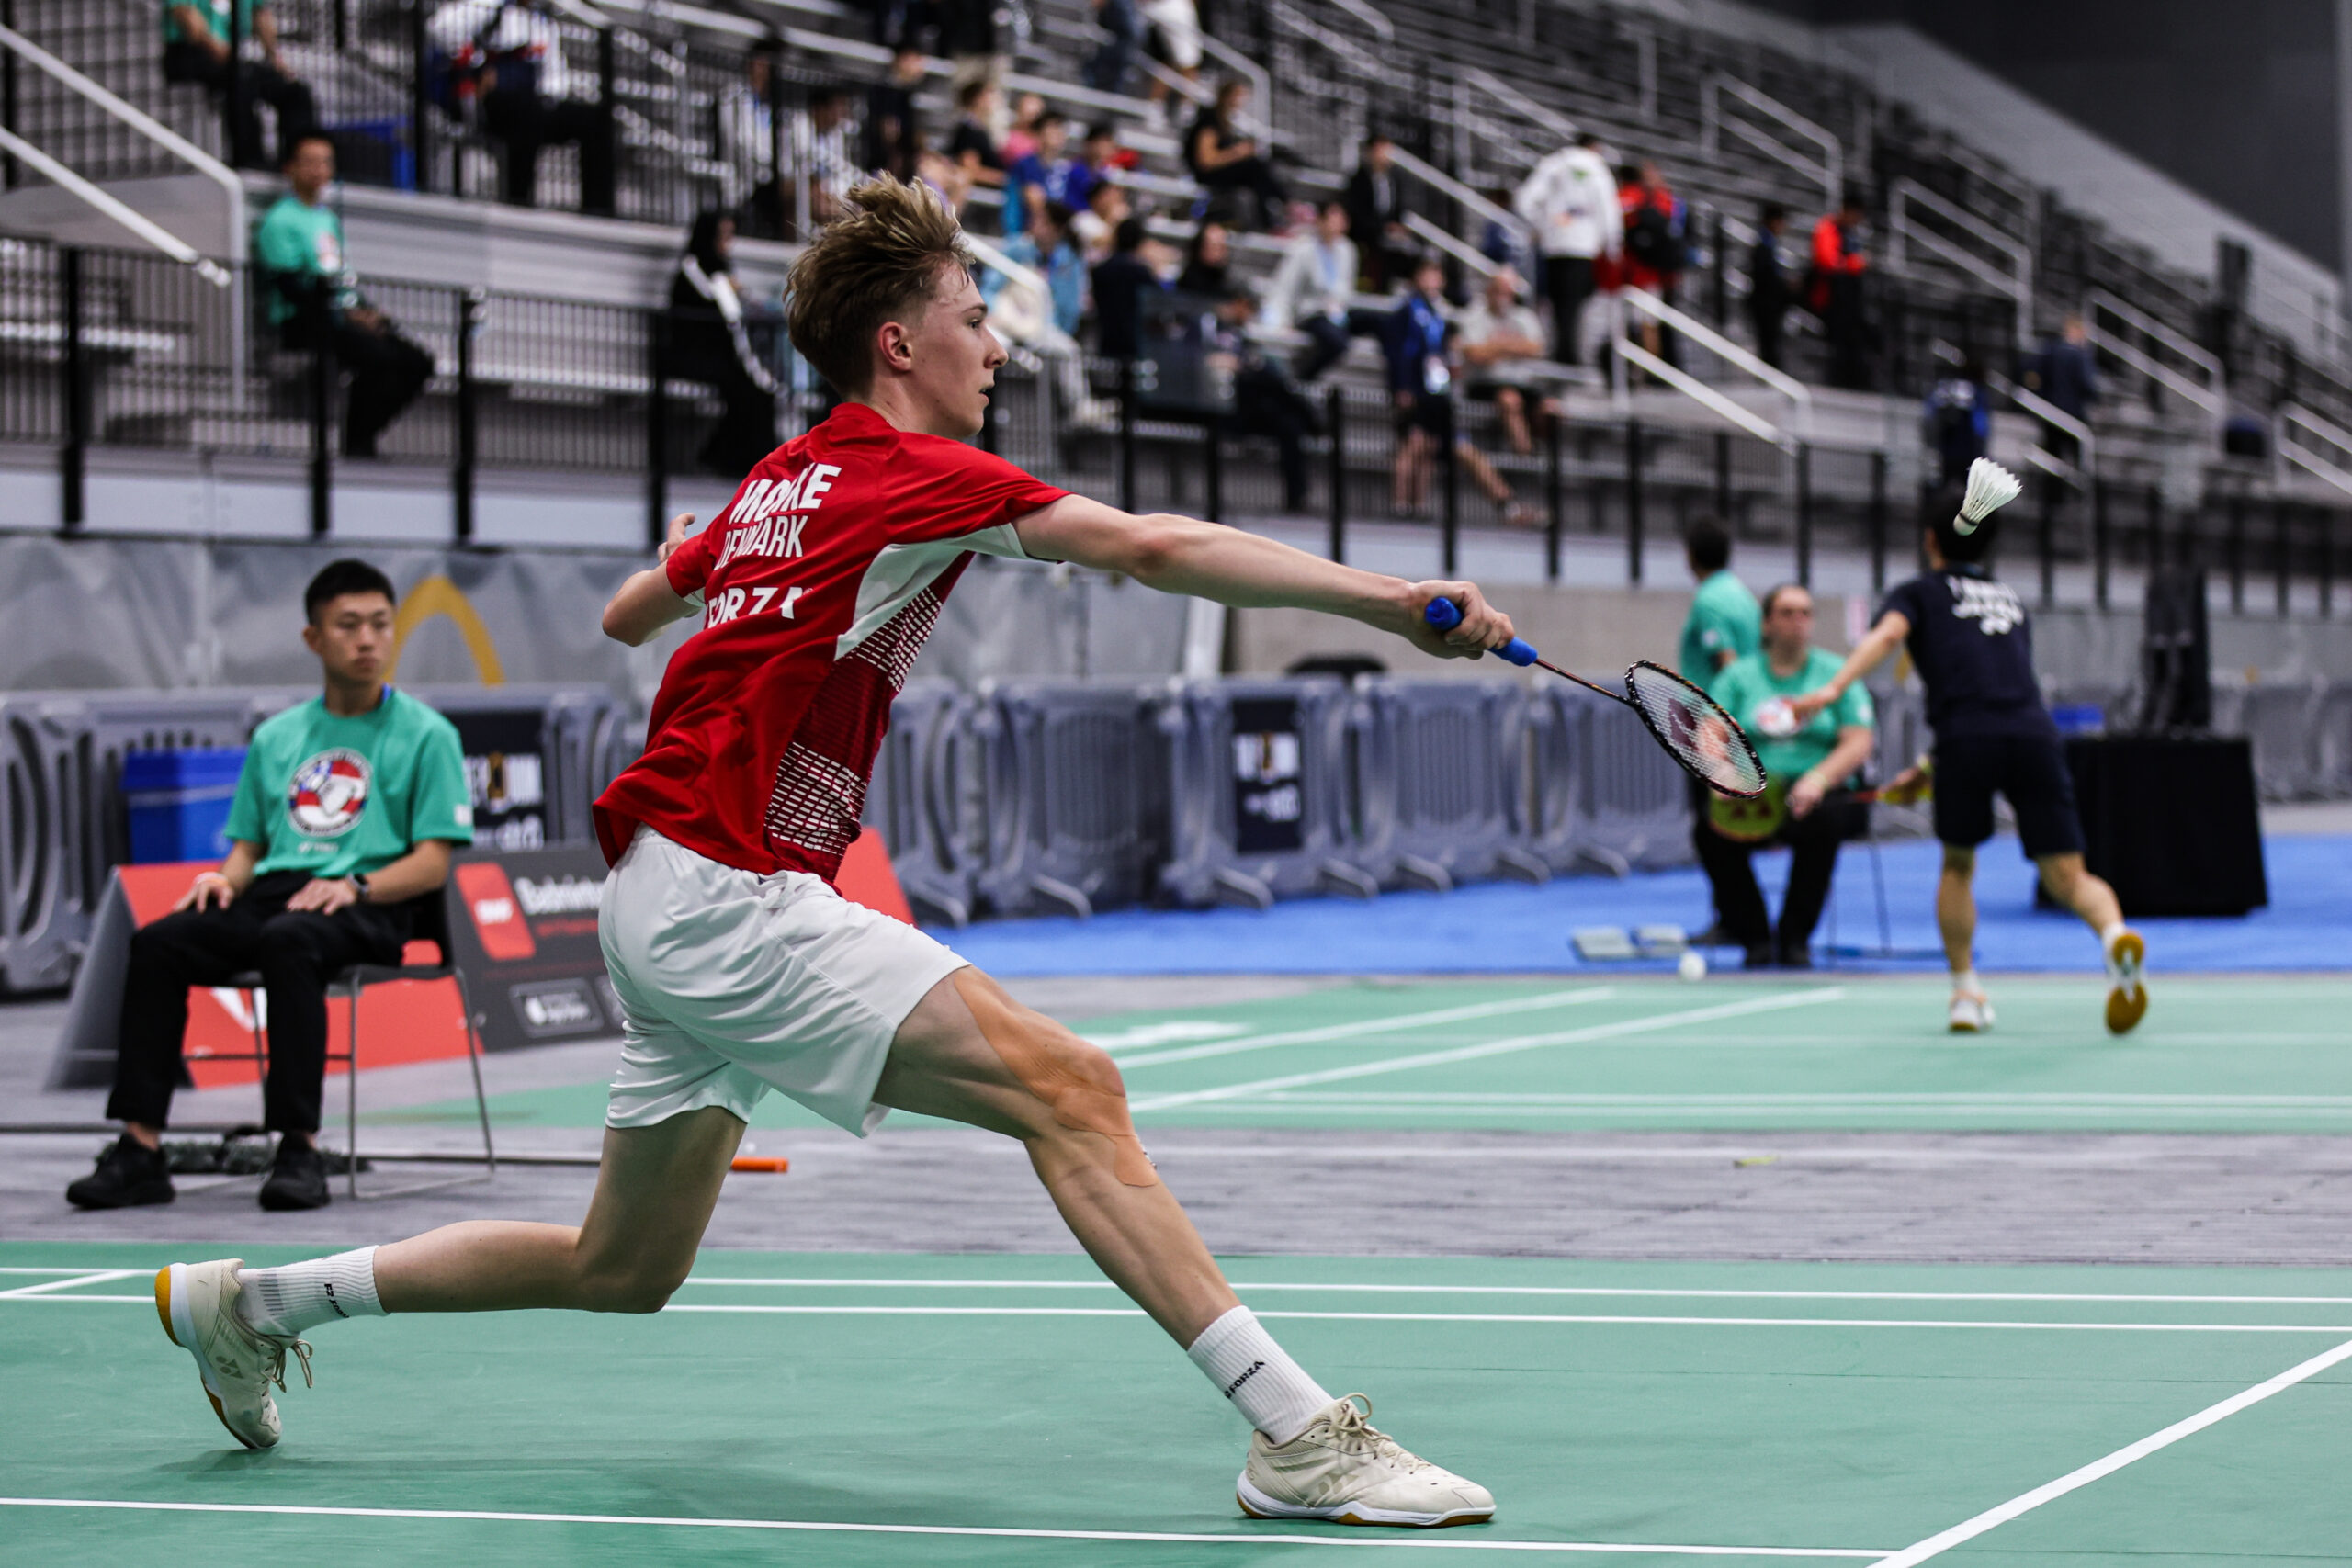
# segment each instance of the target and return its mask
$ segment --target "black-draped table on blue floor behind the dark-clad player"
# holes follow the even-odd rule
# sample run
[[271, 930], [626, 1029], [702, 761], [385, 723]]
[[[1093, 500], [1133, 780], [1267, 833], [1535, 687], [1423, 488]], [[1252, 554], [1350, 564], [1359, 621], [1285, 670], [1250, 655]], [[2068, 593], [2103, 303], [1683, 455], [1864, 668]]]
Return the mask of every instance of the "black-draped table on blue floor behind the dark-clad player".
[[2244, 914], [2270, 903], [2253, 748], [2220, 736], [2065, 743], [2084, 860], [2124, 914]]

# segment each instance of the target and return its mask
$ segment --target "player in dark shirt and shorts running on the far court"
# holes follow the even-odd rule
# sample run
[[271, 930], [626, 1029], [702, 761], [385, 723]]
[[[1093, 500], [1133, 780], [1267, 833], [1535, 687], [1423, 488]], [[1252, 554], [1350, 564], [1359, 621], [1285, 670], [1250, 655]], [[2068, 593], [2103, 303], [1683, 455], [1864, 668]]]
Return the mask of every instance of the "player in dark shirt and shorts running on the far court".
[[1992, 1004], [1976, 978], [1971, 884], [1976, 846], [1992, 837], [1992, 797], [2006, 795], [2042, 886], [2098, 931], [2107, 954], [2107, 1030], [2124, 1034], [2147, 1011], [2140, 985], [2147, 950], [2140, 933], [2124, 926], [2114, 889], [2082, 863], [2074, 778], [2058, 726], [2042, 705], [2025, 604], [1985, 567], [1999, 515], [1962, 534], [1959, 496], [1962, 484], [1955, 482], [1929, 501], [1929, 569], [1889, 592], [1877, 625], [1844, 668], [1828, 686], [1792, 698], [1790, 708], [1799, 724], [1811, 719], [1896, 644], [1905, 644], [1926, 686], [1926, 717], [1936, 731], [1936, 837], [1943, 839], [1936, 924], [1952, 966], [1952, 1030], [1973, 1034], [1992, 1027]]

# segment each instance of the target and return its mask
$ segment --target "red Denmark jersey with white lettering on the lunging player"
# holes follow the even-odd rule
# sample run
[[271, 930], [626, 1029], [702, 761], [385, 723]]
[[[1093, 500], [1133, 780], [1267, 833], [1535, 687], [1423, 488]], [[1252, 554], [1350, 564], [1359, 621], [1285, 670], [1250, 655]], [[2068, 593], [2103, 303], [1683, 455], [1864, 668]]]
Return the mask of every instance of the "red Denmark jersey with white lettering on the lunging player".
[[670, 658], [644, 755], [597, 797], [604, 860], [637, 823], [720, 865], [830, 882], [858, 837], [889, 703], [971, 552], [1068, 491], [866, 404], [750, 470], [670, 552], [703, 628]]

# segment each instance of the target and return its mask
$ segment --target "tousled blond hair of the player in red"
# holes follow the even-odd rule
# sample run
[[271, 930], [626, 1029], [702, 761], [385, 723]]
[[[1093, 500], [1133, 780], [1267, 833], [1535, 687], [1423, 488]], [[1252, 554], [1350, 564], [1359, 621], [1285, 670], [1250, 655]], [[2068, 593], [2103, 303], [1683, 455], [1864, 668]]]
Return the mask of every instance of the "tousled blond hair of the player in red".
[[929, 306], [950, 266], [969, 273], [974, 259], [955, 214], [929, 186], [889, 174], [856, 186], [849, 214], [793, 263], [786, 284], [793, 348], [835, 390], [863, 393], [875, 371], [875, 331]]

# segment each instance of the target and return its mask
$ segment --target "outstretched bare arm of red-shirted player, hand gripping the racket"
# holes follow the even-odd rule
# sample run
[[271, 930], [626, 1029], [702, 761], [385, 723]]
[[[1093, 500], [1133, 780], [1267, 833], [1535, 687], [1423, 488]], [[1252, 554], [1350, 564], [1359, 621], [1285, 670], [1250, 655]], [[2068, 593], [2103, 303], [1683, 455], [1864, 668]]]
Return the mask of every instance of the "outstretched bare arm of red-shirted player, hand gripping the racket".
[[[1218, 604], [1348, 616], [1439, 658], [1477, 658], [1512, 639], [1510, 616], [1486, 604], [1475, 583], [1406, 583], [1216, 522], [1167, 512], [1138, 517], [1087, 496], [1063, 496], [1014, 527], [1021, 548], [1035, 559], [1124, 571], [1145, 588]], [[1435, 632], [1421, 618], [1437, 597], [1463, 609], [1463, 621], [1451, 632]]]

